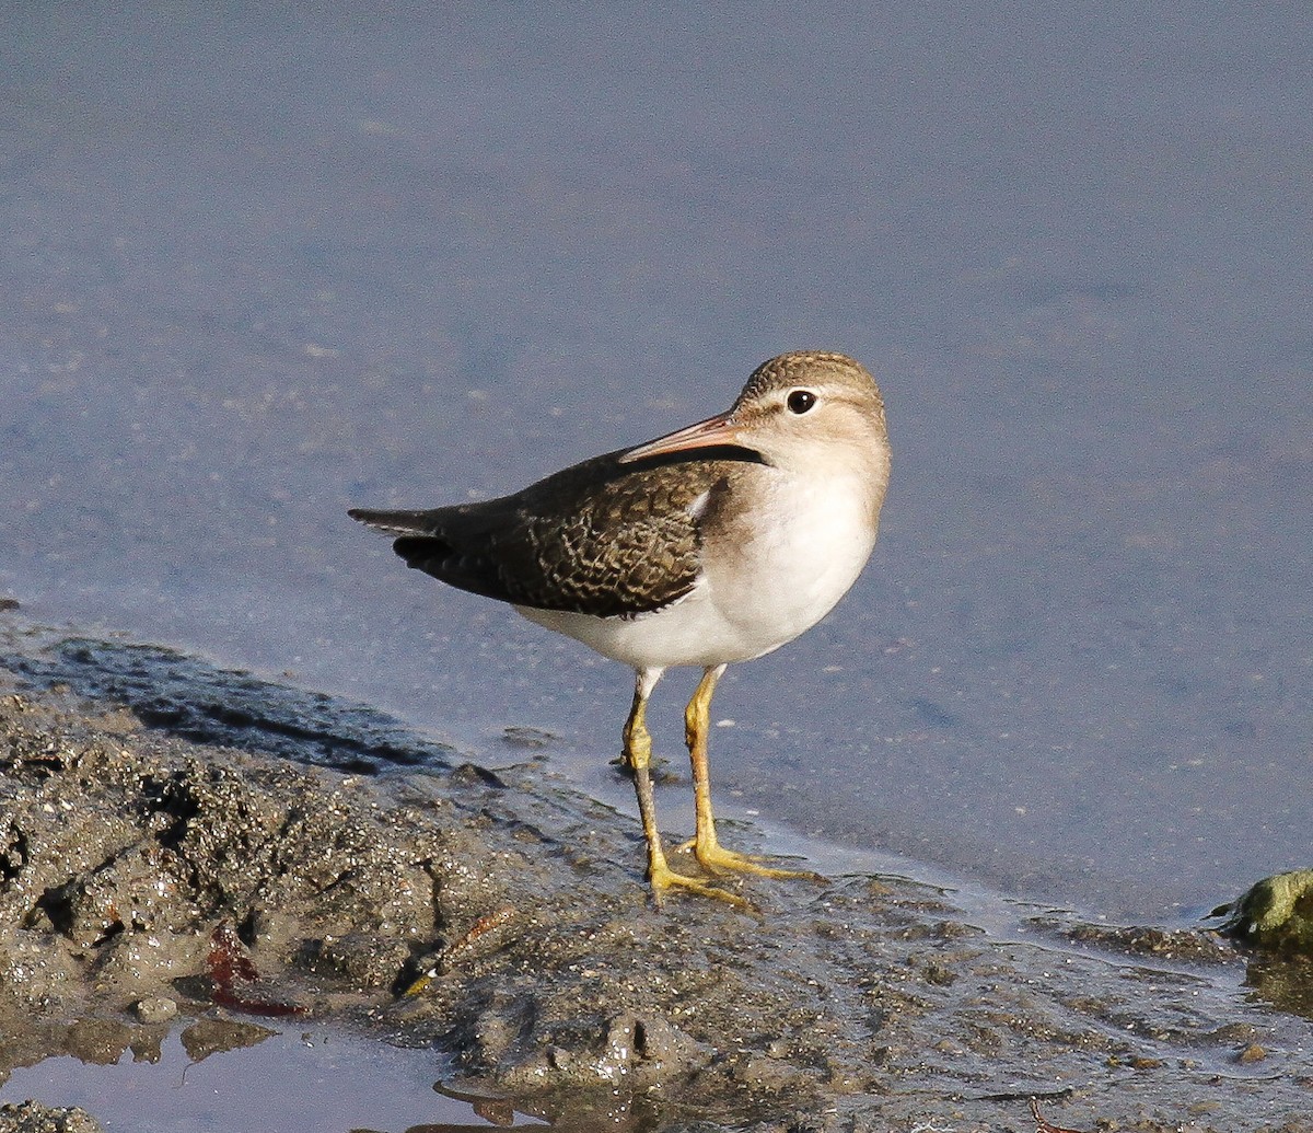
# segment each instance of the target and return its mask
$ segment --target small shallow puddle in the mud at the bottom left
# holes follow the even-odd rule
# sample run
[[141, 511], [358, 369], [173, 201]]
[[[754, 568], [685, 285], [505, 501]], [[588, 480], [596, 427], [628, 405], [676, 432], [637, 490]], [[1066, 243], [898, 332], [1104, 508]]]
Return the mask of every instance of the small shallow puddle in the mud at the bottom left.
[[326, 1028], [277, 1033], [202, 1019], [168, 1033], [83, 1020], [67, 1028], [64, 1050], [37, 1054], [8, 1078], [0, 1067], [0, 1104], [79, 1105], [109, 1133], [135, 1133], [147, 1115], [150, 1128], [225, 1133], [457, 1133], [490, 1125], [642, 1133], [655, 1124], [649, 1103], [624, 1091], [516, 1100], [471, 1083], [435, 1082], [440, 1063], [432, 1050]]

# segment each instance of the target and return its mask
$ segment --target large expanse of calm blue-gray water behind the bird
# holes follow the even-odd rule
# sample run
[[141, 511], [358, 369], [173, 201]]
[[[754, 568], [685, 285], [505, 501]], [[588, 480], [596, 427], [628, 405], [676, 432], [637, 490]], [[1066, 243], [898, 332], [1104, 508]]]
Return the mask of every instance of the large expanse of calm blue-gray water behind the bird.
[[512, 490], [843, 350], [889, 405], [881, 542], [730, 670], [726, 804], [1119, 916], [1309, 862], [1302, 5], [123, 7], [0, 17], [29, 616], [492, 754], [551, 732], [628, 806], [629, 676], [345, 507]]

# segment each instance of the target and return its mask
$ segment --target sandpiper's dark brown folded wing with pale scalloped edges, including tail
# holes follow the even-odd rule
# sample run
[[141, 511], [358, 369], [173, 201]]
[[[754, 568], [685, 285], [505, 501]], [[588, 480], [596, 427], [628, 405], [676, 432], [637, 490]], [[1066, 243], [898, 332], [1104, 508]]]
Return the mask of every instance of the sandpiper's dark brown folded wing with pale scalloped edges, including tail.
[[408, 566], [462, 590], [540, 610], [633, 616], [692, 590], [701, 569], [699, 499], [723, 489], [734, 460], [620, 464], [620, 455], [499, 499], [351, 514], [399, 535], [393, 545]]

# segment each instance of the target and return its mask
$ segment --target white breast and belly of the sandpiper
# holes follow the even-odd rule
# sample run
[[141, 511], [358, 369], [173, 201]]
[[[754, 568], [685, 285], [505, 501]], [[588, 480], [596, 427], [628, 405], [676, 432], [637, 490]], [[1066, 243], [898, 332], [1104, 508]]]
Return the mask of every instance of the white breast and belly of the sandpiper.
[[635, 669], [748, 661], [819, 622], [856, 581], [876, 531], [863, 485], [783, 480], [704, 547], [702, 576], [678, 602], [634, 618], [516, 607]]

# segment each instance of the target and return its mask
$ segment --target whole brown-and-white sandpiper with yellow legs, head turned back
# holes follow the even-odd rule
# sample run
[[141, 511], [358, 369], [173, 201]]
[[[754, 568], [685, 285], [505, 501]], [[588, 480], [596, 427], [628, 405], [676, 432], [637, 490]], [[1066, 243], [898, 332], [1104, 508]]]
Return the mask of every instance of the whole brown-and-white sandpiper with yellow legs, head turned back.
[[842, 354], [763, 363], [734, 405], [635, 448], [595, 456], [513, 496], [428, 511], [353, 509], [406, 565], [509, 602], [637, 674], [625, 723], [658, 906], [672, 889], [742, 899], [672, 870], [653, 802], [647, 698], [666, 669], [702, 678], [684, 712], [699, 865], [798, 877], [716, 837], [706, 761], [725, 666], [792, 641], [856, 581], [876, 542], [889, 435], [874, 379]]

